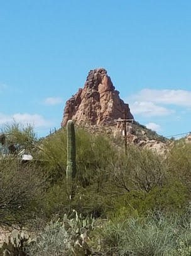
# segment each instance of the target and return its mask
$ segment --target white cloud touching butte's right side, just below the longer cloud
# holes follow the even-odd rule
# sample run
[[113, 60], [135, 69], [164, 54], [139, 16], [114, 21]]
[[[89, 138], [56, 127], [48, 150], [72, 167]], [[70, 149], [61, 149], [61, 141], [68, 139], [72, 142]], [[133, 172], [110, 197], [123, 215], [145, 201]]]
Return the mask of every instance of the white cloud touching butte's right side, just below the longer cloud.
[[133, 104], [130, 104], [130, 109], [133, 114], [141, 114], [145, 116], [169, 115], [174, 112], [168, 108], [155, 105], [153, 102], [134, 102]]

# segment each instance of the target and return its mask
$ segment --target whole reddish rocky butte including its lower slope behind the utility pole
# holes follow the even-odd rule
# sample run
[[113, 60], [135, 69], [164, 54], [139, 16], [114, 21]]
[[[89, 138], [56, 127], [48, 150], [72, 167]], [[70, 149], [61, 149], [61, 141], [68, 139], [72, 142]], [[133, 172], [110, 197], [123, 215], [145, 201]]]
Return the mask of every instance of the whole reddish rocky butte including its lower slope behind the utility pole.
[[77, 93], [70, 98], [63, 112], [62, 127], [72, 119], [76, 125], [85, 126], [91, 133], [107, 133], [109, 136], [123, 136], [124, 119], [133, 120], [126, 122], [126, 139], [128, 143], [147, 147], [158, 153], [166, 152], [165, 138], [156, 132], [147, 129], [134, 121], [129, 105], [119, 97], [111, 78], [104, 68], [90, 70], [84, 84]]

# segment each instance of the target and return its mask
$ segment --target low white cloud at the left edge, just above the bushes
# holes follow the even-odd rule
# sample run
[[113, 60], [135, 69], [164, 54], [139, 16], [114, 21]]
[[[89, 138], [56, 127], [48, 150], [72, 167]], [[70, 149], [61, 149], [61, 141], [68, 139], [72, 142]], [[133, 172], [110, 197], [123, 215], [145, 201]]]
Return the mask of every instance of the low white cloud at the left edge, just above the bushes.
[[30, 113], [14, 113], [13, 115], [5, 115], [0, 113], [0, 124], [5, 124], [8, 122], [13, 122], [15, 120], [19, 124], [31, 124], [35, 127], [48, 126], [52, 123], [48, 120], [45, 120], [41, 115]]

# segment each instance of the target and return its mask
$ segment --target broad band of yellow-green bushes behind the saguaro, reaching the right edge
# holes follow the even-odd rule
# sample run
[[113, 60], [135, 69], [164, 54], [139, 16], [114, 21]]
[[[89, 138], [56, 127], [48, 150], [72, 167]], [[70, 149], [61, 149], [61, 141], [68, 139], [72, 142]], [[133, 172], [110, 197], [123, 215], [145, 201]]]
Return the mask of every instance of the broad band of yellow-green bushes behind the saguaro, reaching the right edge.
[[[175, 146], [163, 157], [150, 149], [128, 145], [124, 154], [104, 134], [95, 136], [79, 127], [75, 133], [78, 172], [73, 181], [72, 209], [106, 218], [134, 212], [143, 215], [148, 210], [181, 212], [188, 204], [190, 146]], [[60, 129], [36, 147], [40, 148], [38, 158], [47, 160], [40, 166], [50, 181], [38, 212], [44, 212], [46, 218], [62, 216], [69, 209], [67, 131]]]

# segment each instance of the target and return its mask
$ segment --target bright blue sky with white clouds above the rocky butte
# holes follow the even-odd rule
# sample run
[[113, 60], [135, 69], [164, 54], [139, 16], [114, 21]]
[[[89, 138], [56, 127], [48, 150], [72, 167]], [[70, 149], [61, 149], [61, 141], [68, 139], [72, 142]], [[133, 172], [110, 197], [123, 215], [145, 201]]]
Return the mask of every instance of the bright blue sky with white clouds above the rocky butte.
[[65, 102], [104, 67], [134, 118], [191, 130], [191, 1], [0, 0], [0, 126], [60, 127]]

